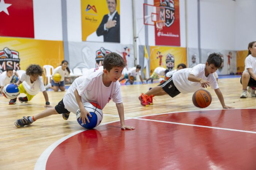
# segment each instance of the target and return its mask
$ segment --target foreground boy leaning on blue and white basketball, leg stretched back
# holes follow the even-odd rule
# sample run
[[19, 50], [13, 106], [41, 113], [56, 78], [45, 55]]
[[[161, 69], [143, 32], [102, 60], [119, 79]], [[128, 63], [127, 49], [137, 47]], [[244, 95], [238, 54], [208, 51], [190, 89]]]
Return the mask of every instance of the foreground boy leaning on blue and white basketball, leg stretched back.
[[15, 121], [16, 127], [23, 127], [33, 123], [35, 120], [54, 114], [62, 114], [63, 119], [67, 120], [69, 113], [76, 113], [80, 109], [80, 119], [86, 124], [90, 122], [87, 115], [91, 114], [84, 108], [83, 103], [94, 102], [103, 109], [105, 105], [113, 98], [116, 103], [117, 111], [120, 117], [121, 129], [135, 129], [125, 125], [124, 106], [121, 99], [120, 83], [118, 79], [122, 75], [125, 67], [124, 59], [111, 52], [106, 54], [103, 60], [103, 71], [97, 71], [86, 76], [80, 76], [68, 88], [63, 99], [54, 107], [49, 108], [35, 116], [23, 117]]

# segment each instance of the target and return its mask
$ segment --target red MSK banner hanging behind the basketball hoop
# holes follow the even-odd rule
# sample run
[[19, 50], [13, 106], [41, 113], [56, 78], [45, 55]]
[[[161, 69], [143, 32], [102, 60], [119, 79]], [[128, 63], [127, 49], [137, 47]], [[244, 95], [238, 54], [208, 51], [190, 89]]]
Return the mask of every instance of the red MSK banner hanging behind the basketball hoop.
[[165, 25], [162, 30], [155, 27], [155, 44], [180, 46], [179, 0], [154, 0], [155, 6], [165, 8]]

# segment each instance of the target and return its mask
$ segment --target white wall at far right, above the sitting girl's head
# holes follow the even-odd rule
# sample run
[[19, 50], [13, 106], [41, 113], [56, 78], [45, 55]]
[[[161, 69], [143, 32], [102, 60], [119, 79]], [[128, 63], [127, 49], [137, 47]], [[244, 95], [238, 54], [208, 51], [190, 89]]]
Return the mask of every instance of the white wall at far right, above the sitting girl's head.
[[234, 50], [247, 50], [256, 41], [256, 0], [236, 0], [236, 46]]

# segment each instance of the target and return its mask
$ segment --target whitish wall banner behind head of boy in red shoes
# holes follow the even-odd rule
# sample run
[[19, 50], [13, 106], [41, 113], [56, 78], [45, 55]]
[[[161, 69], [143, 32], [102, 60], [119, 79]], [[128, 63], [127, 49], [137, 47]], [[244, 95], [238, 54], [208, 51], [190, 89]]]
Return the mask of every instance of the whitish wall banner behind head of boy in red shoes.
[[202, 49], [202, 63], [205, 64], [208, 56], [212, 53], [221, 54], [222, 65], [218, 68], [217, 73], [219, 75], [236, 74], [237, 72], [237, 55], [233, 50], [212, 50]]

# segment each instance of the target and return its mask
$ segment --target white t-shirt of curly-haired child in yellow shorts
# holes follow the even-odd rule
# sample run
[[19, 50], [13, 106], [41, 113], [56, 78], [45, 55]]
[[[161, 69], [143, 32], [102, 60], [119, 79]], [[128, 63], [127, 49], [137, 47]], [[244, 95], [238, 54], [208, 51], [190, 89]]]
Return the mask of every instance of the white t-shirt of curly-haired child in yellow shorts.
[[39, 91], [46, 90], [42, 76], [39, 76], [37, 80], [31, 83], [29, 75], [23, 73], [20, 78], [20, 81], [22, 82], [26, 92], [30, 95], [36, 95]]

